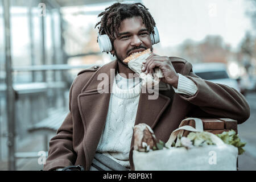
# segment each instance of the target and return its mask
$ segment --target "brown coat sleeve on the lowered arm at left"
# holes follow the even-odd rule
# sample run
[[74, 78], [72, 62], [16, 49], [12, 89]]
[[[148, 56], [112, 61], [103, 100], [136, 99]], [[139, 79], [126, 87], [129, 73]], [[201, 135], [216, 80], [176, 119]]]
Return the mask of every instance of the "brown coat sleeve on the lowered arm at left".
[[[75, 80], [73, 81], [74, 84]], [[73, 166], [76, 154], [73, 151], [73, 120], [71, 113], [72, 88], [69, 90], [69, 113], [63, 124], [57, 130], [57, 134], [49, 142], [49, 151], [44, 170], [53, 170]]]

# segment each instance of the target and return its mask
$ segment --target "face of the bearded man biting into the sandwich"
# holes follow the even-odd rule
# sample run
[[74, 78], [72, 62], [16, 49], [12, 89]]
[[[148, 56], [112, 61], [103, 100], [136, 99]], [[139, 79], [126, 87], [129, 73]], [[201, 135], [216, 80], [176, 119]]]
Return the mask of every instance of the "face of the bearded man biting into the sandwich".
[[120, 24], [119, 33], [115, 37], [112, 53], [115, 53], [119, 61], [123, 61], [134, 52], [144, 51], [148, 48], [152, 51], [150, 34], [140, 16], [124, 19]]

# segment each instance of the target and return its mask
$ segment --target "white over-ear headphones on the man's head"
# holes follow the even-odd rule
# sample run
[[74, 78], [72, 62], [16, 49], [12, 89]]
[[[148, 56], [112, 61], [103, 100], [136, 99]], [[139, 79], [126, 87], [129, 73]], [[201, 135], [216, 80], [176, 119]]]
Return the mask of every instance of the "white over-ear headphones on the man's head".
[[[154, 31], [155, 31], [155, 34], [153, 33], [150, 34], [152, 45], [160, 42], [158, 28], [154, 27]], [[106, 34], [104, 35], [98, 34], [98, 45], [100, 46], [101, 52], [112, 51], [112, 43], [109, 39], [109, 36]]]

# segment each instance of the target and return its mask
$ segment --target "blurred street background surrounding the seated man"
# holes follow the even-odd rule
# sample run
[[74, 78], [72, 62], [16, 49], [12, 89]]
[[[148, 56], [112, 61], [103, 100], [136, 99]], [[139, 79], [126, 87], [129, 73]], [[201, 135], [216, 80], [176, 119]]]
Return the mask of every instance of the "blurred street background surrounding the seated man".
[[238, 133], [240, 170], [256, 170], [256, 1], [0, 0], [0, 170], [40, 170], [82, 69], [114, 57], [97, 44], [97, 17], [141, 2], [155, 19], [159, 55], [183, 57], [204, 79], [236, 88], [251, 116]]

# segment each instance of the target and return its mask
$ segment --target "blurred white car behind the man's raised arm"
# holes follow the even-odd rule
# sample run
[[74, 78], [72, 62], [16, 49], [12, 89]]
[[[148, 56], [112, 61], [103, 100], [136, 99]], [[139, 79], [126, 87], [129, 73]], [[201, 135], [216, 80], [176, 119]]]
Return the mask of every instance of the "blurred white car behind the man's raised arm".
[[228, 85], [238, 90], [238, 92], [241, 92], [238, 82], [235, 79], [229, 77], [226, 64], [197, 63], [193, 64], [193, 72], [195, 72], [197, 76], [203, 78], [204, 80], [212, 81], [217, 84]]

